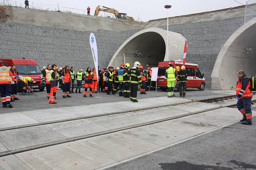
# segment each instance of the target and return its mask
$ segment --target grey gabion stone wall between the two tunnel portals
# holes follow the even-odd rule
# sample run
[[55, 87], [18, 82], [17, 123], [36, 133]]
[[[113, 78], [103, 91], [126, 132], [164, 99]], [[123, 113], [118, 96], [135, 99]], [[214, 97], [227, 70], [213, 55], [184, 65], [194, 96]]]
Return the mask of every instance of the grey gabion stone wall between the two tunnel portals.
[[[206, 88], [211, 88], [211, 74], [220, 49], [243, 24], [244, 17], [239, 17], [169, 25], [169, 31], [180, 33], [188, 40], [187, 61], [199, 65], [206, 79]], [[166, 30], [167, 26], [159, 28]], [[124, 31], [124, 33], [131, 36], [140, 30]]]

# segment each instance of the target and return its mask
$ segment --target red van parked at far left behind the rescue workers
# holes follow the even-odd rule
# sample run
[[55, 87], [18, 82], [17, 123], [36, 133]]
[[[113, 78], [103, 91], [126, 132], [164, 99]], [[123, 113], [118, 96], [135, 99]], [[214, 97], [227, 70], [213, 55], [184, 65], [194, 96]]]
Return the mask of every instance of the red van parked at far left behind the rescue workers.
[[[8, 66], [12, 64], [16, 65], [16, 70], [18, 71], [20, 76], [23, 77], [31, 77], [34, 79], [31, 82], [31, 88], [39, 89], [40, 92], [44, 91], [45, 85], [42, 82], [42, 71], [38, 66], [36, 60], [33, 59], [12, 59], [12, 58], [1, 58], [0, 65], [2, 65], [2, 61], [6, 61]], [[20, 80], [18, 80], [18, 92], [21, 92]]]

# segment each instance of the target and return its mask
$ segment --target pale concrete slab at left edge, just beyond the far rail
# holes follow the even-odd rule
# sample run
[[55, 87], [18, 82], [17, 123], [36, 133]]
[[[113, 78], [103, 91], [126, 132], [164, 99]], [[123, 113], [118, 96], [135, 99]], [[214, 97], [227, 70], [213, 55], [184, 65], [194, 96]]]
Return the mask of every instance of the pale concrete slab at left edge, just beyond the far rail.
[[0, 130], [4, 128], [19, 127], [24, 125], [40, 123], [35, 119], [32, 119], [27, 115], [24, 115], [21, 112], [1, 114], [0, 120]]

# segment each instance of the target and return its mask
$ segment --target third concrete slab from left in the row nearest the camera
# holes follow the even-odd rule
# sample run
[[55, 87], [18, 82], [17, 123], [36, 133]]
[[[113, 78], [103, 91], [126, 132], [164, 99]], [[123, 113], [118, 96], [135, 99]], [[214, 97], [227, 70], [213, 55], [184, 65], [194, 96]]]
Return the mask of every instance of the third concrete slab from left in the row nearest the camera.
[[106, 155], [117, 162], [161, 147], [118, 132], [78, 140], [76, 143]]

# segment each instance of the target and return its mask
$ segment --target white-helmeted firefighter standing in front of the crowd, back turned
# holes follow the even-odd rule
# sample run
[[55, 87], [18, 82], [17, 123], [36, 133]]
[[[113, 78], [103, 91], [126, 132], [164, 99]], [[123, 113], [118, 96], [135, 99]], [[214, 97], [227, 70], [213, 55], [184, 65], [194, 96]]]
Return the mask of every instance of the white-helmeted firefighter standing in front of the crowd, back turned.
[[142, 86], [141, 75], [139, 70], [140, 62], [135, 62], [134, 67], [129, 70], [128, 75], [131, 76], [131, 96], [130, 99], [132, 102], [138, 102], [137, 100], [137, 91], [138, 85]]

